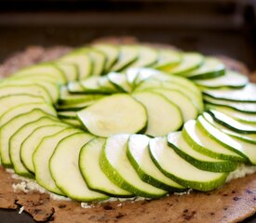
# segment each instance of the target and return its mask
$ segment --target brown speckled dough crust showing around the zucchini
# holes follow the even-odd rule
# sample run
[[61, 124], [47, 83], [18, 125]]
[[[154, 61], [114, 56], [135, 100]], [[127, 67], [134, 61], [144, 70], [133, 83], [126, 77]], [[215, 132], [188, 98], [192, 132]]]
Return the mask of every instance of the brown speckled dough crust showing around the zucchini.
[[[99, 40], [99, 41], [102, 41]], [[134, 38], [108, 38], [103, 41], [134, 43]], [[159, 46], [159, 45], [157, 45]], [[159, 46], [161, 47], [161, 46]], [[30, 46], [15, 54], [0, 66], [0, 76], [7, 76], [21, 67], [39, 61], [59, 58], [70, 47], [44, 48]], [[230, 69], [249, 74], [246, 66], [234, 59], [220, 57]], [[12, 184], [20, 182], [0, 167], [0, 208], [16, 209], [22, 205], [24, 211], [36, 221], [54, 223], [123, 222], [238, 222], [256, 213], [256, 174], [238, 178], [219, 190], [208, 193], [193, 191], [189, 195], [168, 197], [141, 202], [101, 203], [91, 208], [81, 208], [80, 203], [54, 201], [48, 194], [38, 191], [14, 192]]]

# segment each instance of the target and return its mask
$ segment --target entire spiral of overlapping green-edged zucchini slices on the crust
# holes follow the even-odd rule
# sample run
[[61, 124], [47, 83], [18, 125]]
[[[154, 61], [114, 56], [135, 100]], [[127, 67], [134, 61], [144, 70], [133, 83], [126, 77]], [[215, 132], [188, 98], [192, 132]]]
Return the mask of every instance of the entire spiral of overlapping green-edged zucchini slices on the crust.
[[3, 79], [0, 108], [2, 164], [76, 201], [213, 190], [256, 164], [256, 85], [199, 53], [81, 47]]

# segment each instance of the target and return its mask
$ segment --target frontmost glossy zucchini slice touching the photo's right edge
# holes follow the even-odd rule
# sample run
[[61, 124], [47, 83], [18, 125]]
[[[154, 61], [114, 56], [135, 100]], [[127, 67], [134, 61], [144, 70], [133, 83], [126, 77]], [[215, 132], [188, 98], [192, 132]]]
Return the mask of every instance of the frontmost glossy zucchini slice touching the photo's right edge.
[[[204, 116], [208, 116], [208, 119], [206, 120]], [[200, 123], [202, 131], [205, 131], [205, 133], [208, 134], [209, 138], [216, 140], [217, 142], [221, 143], [222, 146], [224, 146], [225, 148], [231, 151], [235, 151], [237, 154], [243, 156], [245, 159], [248, 159], [250, 163], [255, 164], [255, 145], [251, 144], [250, 147], [247, 147], [242, 143], [237, 142], [234, 138], [231, 138], [227, 134], [223, 133], [216, 126], [212, 125], [213, 120], [209, 113], [204, 113], [204, 116], [200, 115], [197, 119], [197, 122]], [[210, 118], [212, 120], [211, 123], [209, 123]]]

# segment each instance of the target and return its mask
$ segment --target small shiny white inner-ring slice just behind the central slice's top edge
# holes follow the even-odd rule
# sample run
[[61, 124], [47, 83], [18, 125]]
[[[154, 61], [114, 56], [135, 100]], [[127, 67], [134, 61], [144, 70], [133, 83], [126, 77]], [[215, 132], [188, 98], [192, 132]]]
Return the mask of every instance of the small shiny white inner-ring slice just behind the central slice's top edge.
[[131, 92], [132, 86], [129, 85], [126, 74], [110, 72], [107, 75], [109, 81], [121, 92]]

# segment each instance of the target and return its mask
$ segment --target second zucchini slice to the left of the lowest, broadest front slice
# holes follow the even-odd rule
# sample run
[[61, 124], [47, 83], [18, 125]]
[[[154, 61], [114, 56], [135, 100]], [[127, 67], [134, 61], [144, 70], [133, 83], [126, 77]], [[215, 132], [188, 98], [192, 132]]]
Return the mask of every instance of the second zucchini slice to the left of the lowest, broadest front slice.
[[34, 173], [33, 153], [41, 140], [45, 137], [51, 136], [60, 132], [67, 125], [59, 122], [52, 125], [39, 126], [21, 143], [20, 159], [24, 166], [32, 173]]

